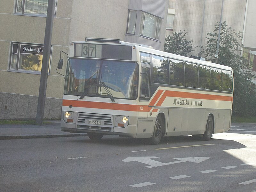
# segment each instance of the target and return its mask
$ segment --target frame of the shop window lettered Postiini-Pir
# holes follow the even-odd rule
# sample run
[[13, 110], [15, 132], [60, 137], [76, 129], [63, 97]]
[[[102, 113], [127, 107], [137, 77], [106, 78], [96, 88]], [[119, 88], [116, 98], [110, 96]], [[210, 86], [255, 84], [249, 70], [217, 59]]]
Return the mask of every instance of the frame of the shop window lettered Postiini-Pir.
[[[13, 44], [18, 44], [18, 48], [17, 48], [17, 58], [16, 58], [16, 66], [15, 68], [11, 68], [12, 67], [12, 51], [13, 51]], [[9, 55], [9, 62], [8, 62], [8, 71], [11, 72], [18, 72], [18, 73], [29, 73], [29, 74], [37, 74], [37, 75], [41, 75], [41, 71], [36, 71], [36, 70], [29, 70], [29, 69], [19, 69], [19, 65], [20, 65], [20, 55], [24, 54], [24, 53], [20, 53], [21, 50], [21, 45], [31, 45], [31, 46], [38, 46], [38, 47], [42, 47], [42, 49], [44, 49], [44, 44], [34, 44], [34, 43], [23, 43], [23, 42], [11, 42], [10, 45], [10, 55]], [[14, 53], [15, 54], [15, 53]], [[42, 53], [43, 56], [43, 53]], [[42, 60], [43, 62], [43, 60]], [[51, 63], [52, 63], [52, 45], [51, 45], [51, 51], [50, 51], [50, 61], [49, 61], [49, 67], [48, 67], [48, 75], [50, 75], [50, 71], [51, 71]]]

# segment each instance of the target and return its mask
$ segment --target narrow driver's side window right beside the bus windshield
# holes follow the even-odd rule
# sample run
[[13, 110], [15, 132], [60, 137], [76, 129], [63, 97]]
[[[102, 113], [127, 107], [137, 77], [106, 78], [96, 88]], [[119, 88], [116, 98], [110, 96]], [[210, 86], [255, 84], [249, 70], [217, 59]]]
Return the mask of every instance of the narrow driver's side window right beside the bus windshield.
[[142, 97], [149, 97], [149, 74], [150, 74], [150, 68], [147, 68], [147, 67], [141, 68], [140, 95]]

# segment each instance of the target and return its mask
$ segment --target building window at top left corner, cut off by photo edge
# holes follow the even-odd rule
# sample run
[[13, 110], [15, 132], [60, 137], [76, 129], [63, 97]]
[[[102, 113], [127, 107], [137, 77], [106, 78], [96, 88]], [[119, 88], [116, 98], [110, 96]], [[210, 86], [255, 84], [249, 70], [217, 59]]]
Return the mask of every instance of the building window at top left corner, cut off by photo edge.
[[[55, 0], [55, 12], [56, 13]], [[30, 14], [30, 15], [45, 15], [47, 14], [48, 0], [16, 0], [15, 13]]]

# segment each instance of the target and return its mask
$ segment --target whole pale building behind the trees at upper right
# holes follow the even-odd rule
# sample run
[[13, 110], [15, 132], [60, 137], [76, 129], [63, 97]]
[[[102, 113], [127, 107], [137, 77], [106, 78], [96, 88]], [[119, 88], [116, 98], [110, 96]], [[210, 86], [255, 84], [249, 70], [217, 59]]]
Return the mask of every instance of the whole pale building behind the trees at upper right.
[[[184, 30], [187, 34], [186, 39], [192, 41], [195, 46], [190, 53], [194, 56], [199, 53], [204, 1], [169, 0], [166, 36], [171, 35], [172, 30], [176, 32]], [[207, 34], [215, 29], [217, 22], [220, 22], [221, 7], [222, 0], [205, 1], [202, 46], [206, 45]], [[254, 63], [254, 65], [248, 63], [247, 68], [256, 75], [255, 9], [255, 0], [224, 0], [222, 21], [226, 21], [227, 25], [236, 32], [243, 32], [241, 44], [244, 45], [244, 49], [241, 55]], [[253, 83], [256, 84], [256, 80]]]

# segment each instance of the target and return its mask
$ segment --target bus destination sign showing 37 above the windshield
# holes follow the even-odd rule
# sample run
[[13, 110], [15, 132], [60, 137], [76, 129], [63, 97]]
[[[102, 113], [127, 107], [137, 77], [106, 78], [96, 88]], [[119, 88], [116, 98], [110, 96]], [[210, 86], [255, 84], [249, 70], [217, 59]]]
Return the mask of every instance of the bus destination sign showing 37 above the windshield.
[[75, 43], [74, 57], [132, 60], [132, 46]]

